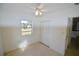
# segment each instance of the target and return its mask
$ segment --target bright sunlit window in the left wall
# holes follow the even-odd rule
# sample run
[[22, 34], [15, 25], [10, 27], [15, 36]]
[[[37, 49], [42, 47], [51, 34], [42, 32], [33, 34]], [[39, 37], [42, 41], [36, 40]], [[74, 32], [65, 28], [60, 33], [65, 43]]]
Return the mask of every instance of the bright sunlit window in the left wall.
[[29, 21], [21, 21], [21, 34], [23, 36], [32, 34], [32, 24]]

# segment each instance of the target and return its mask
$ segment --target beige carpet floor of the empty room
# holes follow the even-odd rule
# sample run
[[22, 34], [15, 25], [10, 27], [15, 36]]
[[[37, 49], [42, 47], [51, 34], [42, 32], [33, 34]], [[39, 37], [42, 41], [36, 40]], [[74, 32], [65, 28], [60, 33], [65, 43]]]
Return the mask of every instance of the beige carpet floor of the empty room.
[[18, 49], [8, 53], [6, 56], [61, 56], [61, 54], [41, 43], [34, 43], [26, 47], [24, 51]]

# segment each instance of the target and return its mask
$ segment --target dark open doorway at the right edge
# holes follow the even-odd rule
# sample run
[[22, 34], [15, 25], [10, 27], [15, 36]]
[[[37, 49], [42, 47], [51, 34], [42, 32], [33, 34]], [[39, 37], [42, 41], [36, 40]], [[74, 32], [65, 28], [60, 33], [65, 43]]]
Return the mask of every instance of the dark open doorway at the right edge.
[[70, 43], [66, 49], [66, 56], [79, 56], [79, 17], [72, 18]]

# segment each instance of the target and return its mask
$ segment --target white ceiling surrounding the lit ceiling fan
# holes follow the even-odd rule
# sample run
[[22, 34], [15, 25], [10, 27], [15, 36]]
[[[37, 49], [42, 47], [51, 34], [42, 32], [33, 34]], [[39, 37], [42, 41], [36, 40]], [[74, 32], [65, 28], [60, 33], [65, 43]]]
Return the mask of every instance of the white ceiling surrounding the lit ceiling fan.
[[44, 3], [45, 13], [36, 17], [33, 9], [35, 3], [6, 3], [0, 4], [0, 24], [17, 24], [20, 20], [31, 20], [38, 24], [43, 20], [53, 20], [59, 17], [79, 15], [79, 5], [73, 3]]

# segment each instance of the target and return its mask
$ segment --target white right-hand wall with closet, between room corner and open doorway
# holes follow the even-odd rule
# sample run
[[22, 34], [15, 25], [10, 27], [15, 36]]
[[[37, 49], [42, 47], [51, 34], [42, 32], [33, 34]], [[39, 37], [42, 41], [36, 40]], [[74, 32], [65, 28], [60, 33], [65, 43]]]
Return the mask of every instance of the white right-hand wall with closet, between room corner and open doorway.
[[[60, 21], [61, 20], [61, 21]], [[42, 25], [42, 41], [48, 45], [51, 49], [64, 55], [65, 53], [65, 41], [66, 41], [66, 29], [67, 18], [53, 19], [52, 21], [41, 22]]]

